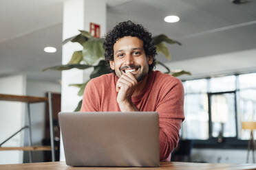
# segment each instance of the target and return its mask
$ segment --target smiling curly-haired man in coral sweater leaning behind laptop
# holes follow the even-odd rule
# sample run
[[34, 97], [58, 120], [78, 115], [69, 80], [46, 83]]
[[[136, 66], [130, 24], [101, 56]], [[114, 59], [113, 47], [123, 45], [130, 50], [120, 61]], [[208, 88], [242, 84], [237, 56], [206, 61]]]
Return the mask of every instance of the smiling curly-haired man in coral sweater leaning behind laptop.
[[131, 21], [106, 35], [105, 59], [114, 73], [91, 80], [81, 111], [156, 111], [160, 125], [160, 160], [177, 146], [184, 119], [182, 82], [153, 71], [156, 47], [151, 34]]

